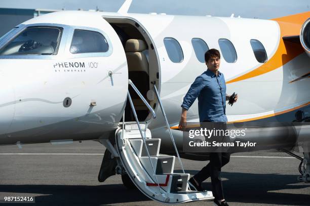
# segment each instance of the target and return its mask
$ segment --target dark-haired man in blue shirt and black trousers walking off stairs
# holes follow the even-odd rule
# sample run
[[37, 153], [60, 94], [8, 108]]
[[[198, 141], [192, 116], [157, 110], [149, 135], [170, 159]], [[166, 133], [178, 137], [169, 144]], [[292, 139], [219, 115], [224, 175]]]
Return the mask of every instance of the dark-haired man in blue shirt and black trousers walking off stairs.
[[[226, 95], [224, 75], [218, 71], [220, 66], [220, 53], [211, 49], [205, 53], [205, 62], [208, 69], [198, 76], [186, 93], [182, 107], [179, 129], [185, 130], [186, 113], [189, 107], [198, 97], [198, 112], [200, 122], [227, 122], [225, 113], [226, 101], [230, 96]], [[235, 96], [234, 102], [238, 99]], [[221, 167], [229, 162], [230, 154], [227, 152], [211, 152], [210, 162], [198, 174], [189, 179], [189, 182], [199, 191], [203, 191], [201, 183], [211, 177], [214, 203], [219, 206], [227, 206], [224, 199]]]

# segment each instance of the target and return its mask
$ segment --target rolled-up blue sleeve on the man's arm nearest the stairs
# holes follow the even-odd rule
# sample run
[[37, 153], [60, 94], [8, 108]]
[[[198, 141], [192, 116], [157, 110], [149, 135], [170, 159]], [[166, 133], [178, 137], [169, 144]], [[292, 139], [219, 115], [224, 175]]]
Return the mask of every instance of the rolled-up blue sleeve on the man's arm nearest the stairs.
[[195, 81], [191, 84], [188, 92], [186, 93], [183, 104], [181, 107], [188, 110], [189, 107], [195, 102], [196, 98], [198, 97], [200, 91], [204, 89], [204, 78], [201, 76], [198, 76]]

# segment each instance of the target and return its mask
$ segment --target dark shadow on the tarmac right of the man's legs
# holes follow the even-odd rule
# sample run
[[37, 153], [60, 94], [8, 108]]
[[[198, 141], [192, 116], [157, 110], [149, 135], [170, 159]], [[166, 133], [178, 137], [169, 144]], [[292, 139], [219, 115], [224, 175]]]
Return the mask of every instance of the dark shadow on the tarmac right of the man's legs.
[[[182, 171], [175, 171], [182, 172]], [[187, 170], [185, 173], [195, 175], [199, 171]], [[310, 205], [310, 184], [300, 183], [296, 175], [249, 174], [222, 172], [223, 189], [228, 202]], [[203, 187], [211, 190], [210, 178]], [[288, 190], [305, 188], [307, 194], [294, 194]], [[281, 191], [283, 190], [283, 191]]]

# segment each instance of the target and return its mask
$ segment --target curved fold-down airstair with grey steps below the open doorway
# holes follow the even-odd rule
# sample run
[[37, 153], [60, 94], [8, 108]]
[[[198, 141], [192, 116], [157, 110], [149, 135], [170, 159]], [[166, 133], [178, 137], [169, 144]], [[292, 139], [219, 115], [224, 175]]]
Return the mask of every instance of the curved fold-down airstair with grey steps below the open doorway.
[[[149, 139], [146, 140], [148, 145], [145, 149], [143, 149], [144, 144], [138, 130], [125, 130], [124, 136], [122, 132], [122, 128], [119, 128], [115, 138], [120, 160], [133, 183], [147, 197], [167, 204], [214, 199], [211, 191], [197, 192], [188, 190], [189, 174], [173, 173], [175, 156], [143, 156], [146, 155], [146, 148], [149, 149], [151, 154], [158, 154], [158, 150], [153, 148], [159, 149], [161, 143], [161, 140], [151, 140], [148, 129], [144, 131], [146, 138]], [[150, 160], [155, 171], [152, 170]]]

